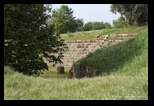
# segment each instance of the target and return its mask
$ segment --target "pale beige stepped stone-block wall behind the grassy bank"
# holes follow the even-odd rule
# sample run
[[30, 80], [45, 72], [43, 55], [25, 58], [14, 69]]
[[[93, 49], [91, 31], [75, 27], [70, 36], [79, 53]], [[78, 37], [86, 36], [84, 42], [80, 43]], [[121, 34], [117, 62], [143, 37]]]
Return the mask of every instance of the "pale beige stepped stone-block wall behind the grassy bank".
[[[96, 35], [93, 40], [65, 41], [68, 46], [68, 51], [64, 53], [64, 58], [62, 59], [63, 64], [61, 65], [71, 67], [74, 62], [100, 47], [117, 44], [133, 36], [132, 34]], [[48, 65], [52, 65], [52, 63], [48, 63]]]

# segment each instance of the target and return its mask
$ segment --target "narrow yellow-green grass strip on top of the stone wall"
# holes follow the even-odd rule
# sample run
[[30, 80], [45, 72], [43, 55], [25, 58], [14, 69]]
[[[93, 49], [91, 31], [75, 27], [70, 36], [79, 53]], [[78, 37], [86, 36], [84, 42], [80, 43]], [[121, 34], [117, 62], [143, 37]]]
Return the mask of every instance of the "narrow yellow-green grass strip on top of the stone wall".
[[95, 35], [106, 35], [106, 34], [138, 34], [143, 30], [146, 30], [146, 27], [126, 27], [126, 28], [113, 28], [113, 29], [102, 29], [94, 31], [82, 31], [76, 33], [67, 33], [61, 34], [61, 37], [64, 40], [92, 40]]

